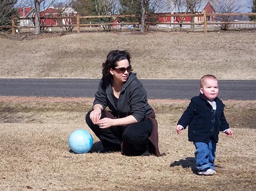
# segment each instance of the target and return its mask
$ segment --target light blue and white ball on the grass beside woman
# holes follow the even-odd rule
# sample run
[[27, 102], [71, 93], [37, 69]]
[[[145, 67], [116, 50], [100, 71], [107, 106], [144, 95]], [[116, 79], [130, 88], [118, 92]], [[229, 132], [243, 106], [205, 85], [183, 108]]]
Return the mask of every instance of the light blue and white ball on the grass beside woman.
[[93, 139], [91, 134], [84, 129], [73, 131], [68, 139], [69, 147], [74, 153], [87, 153], [91, 150]]

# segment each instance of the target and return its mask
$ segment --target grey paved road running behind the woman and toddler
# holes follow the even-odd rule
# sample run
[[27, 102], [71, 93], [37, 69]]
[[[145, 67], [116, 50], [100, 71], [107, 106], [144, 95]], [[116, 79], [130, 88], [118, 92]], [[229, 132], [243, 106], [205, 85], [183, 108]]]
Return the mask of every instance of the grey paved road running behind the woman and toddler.
[[[149, 99], [190, 99], [199, 94], [198, 80], [141, 80]], [[94, 97], [98, 79], [0, 78], [0, 96]], [[219, 97], [256, 100], [256, 81], [219, 80]]]

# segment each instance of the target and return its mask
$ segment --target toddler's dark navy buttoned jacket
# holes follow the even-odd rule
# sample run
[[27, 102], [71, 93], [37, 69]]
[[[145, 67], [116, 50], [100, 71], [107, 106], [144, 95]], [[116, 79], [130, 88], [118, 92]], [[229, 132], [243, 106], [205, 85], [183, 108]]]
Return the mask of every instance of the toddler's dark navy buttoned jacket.
[[207, 102], [204, 94], [191, 98], [187, 109], [178, 121], [184, 129], [188, 126], [188, 140], [194, 142], [218, 142], [219, 132], [229, 129], [229, 124], [223, 113], [225, 105], [217, 97], [215, 99], [217, 109]]

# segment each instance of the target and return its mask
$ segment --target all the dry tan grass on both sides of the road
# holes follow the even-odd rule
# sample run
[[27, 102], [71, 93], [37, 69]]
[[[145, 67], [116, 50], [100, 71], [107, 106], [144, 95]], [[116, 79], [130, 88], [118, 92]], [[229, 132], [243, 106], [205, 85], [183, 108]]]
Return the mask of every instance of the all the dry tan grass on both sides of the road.
[[[17, 40], [0, 37], [0, 77], [98, 78], [109, 50], [132, 52], [140, 78], [255, 80], [255, 32], [81, 33]], [[10, 53], [12, 52], [12, 53]], [[187, 75], [184, 75], [187, 74]], [[220, 133], [213, 176], [195, 174], [194, 145], [177, 120], [189, 100], [149, 100], [159, 148], [167, 155], [69, 152], [73, 130], [91, 132], [84, 115], [93, 98], [0, 97], [0, 190], [256, 190], [255, 100], [225, 100], [234, 137]], [[91, 132], [92, 133], [92, 132]]]

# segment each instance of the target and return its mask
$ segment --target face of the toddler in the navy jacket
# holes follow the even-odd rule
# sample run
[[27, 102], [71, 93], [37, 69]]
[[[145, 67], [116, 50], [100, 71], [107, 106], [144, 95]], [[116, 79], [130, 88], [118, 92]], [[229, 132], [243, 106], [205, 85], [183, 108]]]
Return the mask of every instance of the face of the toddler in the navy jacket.
[[206, 78], [202, 87], [200, 87], [201, 94], [204, 94], [207, 100], [212, 102], [219, 94], [218, 80]]

